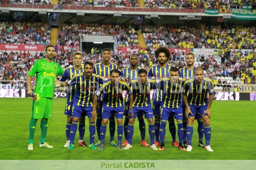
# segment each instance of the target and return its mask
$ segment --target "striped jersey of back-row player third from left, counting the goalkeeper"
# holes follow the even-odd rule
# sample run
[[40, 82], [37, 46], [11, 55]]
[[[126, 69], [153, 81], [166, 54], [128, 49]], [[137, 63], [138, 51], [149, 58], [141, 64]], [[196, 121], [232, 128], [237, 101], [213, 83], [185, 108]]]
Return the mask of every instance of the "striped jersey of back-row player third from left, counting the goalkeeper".
[[[99, 75], [105, 79], [105, 81], [111, 79], [110, 71], [113, 69], [117, 69], [117, 65], [114, 63], [110, 63], [109, 66], [105, 66], [103, 62], [99, 62], [93, 65], [93, 73]], [[99, 96], [99, 101], [102, 101], [102, 97]]]

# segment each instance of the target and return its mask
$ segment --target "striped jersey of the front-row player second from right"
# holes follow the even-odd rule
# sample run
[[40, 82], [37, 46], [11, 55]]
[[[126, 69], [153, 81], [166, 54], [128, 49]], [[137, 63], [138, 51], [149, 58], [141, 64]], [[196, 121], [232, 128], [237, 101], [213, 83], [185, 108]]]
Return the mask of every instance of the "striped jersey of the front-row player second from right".
[[178, 78], [178, 82], [171, 82], [171, 78], [163, 78], [160, 80], [160, 89], [163, 91], [161, 106], [164, 108], [181, 107], [181, 96], [184, 78]]

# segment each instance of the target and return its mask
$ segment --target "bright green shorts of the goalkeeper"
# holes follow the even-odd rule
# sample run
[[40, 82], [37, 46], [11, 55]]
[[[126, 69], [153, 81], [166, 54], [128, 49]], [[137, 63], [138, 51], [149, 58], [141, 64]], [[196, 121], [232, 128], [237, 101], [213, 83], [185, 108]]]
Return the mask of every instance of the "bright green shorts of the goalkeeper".
[[41, 97], [40, 100], [33, 100], [32, 118], [51, 119], [52, 118], [52, 98]]

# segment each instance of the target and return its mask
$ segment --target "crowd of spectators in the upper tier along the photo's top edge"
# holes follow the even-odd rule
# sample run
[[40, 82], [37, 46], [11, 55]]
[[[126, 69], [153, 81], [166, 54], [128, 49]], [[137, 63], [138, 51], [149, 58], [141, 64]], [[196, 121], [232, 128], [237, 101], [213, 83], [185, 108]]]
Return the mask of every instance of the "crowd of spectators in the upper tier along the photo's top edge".
[[[1, 0], [1, 3], [21, 3], [21, 4], [47, 4], [51, 5], [50, 0]], [[56, 5], [56, 4], [53, 4]], [[74, 6], [139, 6], [138, 0], [59, 0], [59, 5]], [[201, 8], [201, 9], [232, 9], [251, 6], [256, 8], [255, 0], [144, 0], [145, 8]]]

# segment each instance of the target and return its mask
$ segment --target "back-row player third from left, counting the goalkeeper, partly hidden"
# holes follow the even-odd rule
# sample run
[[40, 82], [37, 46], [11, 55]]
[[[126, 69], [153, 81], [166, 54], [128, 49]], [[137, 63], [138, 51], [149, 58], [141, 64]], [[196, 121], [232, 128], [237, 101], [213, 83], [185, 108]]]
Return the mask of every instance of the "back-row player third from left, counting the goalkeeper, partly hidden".
[[[93, 73], [99, 76], [104, 77], [105, 80], [108, 80], [111, 78], [111, 70], [117, 69], [117, 65], [110, 62], [111, 59], [111, 50], [109, 48], [103, 49], [102, 54], [103, 62], [99, 62], [93, 66]], [[97, 119], [96, 119], [96, 130], [98, 134], [98, 142], [95, 144], [96, 146], [100, 146], [100, 127], [102, 124], [102, 106], [103, 106], [103, 100], [100, 96], [98, 98], [97, 102]], [[116, 123], [115, 123], [115, 116], [111, 115], [109, 119], [109, 132], [110, 132], [110, 142], [109, 144], [112, 146], [116, 146], [116, 143], [114, 141], [115, 136], [115, 130], [116, 130]]]

